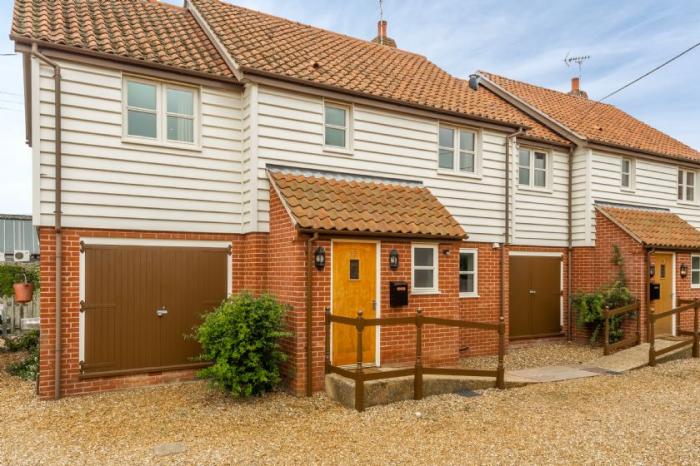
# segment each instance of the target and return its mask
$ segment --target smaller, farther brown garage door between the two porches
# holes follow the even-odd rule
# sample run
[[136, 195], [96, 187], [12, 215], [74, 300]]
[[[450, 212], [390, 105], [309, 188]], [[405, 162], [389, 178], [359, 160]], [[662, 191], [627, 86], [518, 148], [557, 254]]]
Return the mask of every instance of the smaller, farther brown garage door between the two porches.
[[511, 256], [510, 337], [561, 333], [561, 259]]

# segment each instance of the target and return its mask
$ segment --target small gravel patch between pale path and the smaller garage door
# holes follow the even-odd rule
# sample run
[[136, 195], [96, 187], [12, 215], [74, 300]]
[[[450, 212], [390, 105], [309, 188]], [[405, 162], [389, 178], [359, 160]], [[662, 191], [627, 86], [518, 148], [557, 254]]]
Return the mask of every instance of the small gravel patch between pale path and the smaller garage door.
[[[601, 348], [576, 343], [540, 343], [511, 348], [506, 354], [507, 371], [541, 366], [570, 366], [582, 364], [603, 355]], [[461, 364], [474, 369], [492, 369], [497, 356], [479, 356], [462, 359]]]

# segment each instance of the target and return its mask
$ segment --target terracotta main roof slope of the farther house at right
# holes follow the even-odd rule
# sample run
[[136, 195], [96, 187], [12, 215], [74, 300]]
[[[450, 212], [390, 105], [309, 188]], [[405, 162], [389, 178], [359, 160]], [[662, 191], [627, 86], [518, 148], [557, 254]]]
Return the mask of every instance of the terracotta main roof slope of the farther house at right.
[[595, 103], [585, 97], [572, 96], [492, 73], [480, 72], [480, 74], [590, 141], [694, 161], [700, 160], [700, 152], [697, 150], [637, 120], [613, 105]]

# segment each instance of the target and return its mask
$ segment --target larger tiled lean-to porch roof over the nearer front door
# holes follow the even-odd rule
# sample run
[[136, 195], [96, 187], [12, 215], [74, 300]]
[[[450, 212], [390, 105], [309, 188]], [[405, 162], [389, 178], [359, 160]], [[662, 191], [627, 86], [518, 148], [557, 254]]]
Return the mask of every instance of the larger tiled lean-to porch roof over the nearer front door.
[[271, 172], [302, 230], [461, 239], [466, 233], [423, 186]]

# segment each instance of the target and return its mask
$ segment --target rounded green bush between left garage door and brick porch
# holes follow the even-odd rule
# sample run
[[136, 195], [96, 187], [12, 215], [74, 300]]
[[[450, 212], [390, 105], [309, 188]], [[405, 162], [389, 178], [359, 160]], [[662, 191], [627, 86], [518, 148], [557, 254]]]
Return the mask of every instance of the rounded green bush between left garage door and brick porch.
[[203, 316], [194, 338], [202, 345], [199, 359], [213, 364], [198, 376], [234, 396], [260, 395], [280, 382], [280, 350], [286, 308], [270, 295], [234, 295]]

